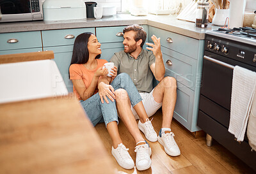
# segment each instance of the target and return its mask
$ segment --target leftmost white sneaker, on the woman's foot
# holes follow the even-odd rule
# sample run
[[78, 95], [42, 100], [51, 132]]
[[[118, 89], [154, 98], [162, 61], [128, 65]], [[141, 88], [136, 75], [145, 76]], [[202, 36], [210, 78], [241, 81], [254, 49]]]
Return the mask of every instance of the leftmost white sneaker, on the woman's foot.
[[122, 143], [116, 149], [112, 147], [112, 155], [115, 157], [117, 163], [127, 170], [134, 168], [134, 162], [128, 150]]

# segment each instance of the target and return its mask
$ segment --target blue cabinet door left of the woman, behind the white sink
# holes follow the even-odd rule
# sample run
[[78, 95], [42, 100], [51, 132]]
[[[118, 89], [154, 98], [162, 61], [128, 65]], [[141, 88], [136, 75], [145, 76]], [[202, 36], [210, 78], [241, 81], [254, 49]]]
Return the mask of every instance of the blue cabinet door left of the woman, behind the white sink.
[[[56, 62], [61, 76], [65, 82], [68, 92], [73, 91], [73, 84], [69, 80], [68, 69], [72, 58], [73, 45], [62, 47], [45, 47], [44, 50], [52, 50], [54, 52], [54, 61]], [[58, 80], [56, 80], [58, 82]]]

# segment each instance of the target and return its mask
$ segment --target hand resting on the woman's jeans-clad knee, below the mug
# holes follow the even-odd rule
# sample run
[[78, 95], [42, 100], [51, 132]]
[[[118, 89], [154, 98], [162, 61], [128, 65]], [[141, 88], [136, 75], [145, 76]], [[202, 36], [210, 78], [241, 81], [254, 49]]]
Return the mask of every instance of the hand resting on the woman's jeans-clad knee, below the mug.
[[[108, 98], [111, 101], [114, 101], [114, 99], [116, 99], [115, 94], [114, 94], [114, 89], [111, 85], [107, 85], [104, 82], [100, 82], [98, 85], [98, 89], [99, 89], [99, 96], [100, 96], [101, 103], [104, 103], [103, 98], [105, 99], [105, 101], [107, 103], [109, 103]], [[107, 98], [107, 96], [108, 96], [108, 98]]]

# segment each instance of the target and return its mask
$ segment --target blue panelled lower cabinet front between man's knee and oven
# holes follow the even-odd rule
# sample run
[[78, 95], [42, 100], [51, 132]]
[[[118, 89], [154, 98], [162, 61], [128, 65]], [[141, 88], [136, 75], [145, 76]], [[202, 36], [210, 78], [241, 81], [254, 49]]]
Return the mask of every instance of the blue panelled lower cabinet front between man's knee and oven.
[[173, 117], [187, 129], [191, 129], [191, 119], [193, 114], [194, 92], [177, 82], [177, 101]]

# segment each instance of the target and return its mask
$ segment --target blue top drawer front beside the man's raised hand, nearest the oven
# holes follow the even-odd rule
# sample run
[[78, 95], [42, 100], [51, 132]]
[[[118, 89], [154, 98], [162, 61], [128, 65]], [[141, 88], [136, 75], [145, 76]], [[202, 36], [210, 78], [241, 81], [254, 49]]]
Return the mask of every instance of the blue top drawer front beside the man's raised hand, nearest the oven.
[[[161, 38], [161, 45], [166, 48], [170, 48], [176, 52], [184, 55], [188, 55], [193, 59], [197, 59], [199, 41], [187, 36], [172, 33], [170, 31], [164, 31], [157, 29], [156, 27], [149, 27], [149, 41], [152, 41], [151, 36], [156, 35], [157, 38]], [[167, 38], [172, 39], [172, 43], [166, 41]]]

